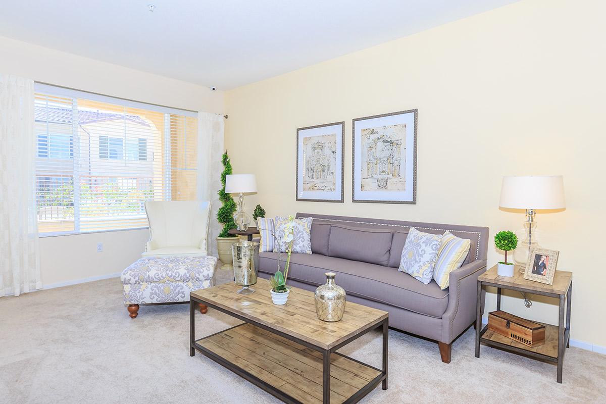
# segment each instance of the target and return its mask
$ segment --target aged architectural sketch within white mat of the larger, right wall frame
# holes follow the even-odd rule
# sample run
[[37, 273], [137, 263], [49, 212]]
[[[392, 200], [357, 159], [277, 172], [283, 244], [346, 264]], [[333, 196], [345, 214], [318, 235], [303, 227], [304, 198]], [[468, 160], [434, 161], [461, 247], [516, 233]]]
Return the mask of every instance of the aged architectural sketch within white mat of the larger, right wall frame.
[[406, 124], [361, 130], [361, 190], [404, 191]]

